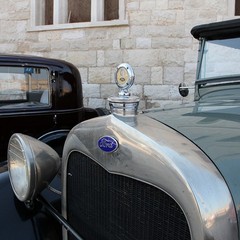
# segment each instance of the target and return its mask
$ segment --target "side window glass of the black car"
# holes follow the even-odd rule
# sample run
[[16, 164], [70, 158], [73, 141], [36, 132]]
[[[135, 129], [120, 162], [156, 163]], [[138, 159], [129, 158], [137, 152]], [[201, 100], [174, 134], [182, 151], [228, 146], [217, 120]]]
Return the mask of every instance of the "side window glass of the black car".
[[49, 105], [50, 86], [47, 68], [0, 66], [0, 108]]

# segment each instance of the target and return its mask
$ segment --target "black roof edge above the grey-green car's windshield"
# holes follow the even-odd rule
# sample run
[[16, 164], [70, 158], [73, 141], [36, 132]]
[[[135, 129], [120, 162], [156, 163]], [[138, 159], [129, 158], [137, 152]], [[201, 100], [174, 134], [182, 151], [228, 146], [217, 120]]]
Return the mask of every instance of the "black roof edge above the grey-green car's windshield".
[[209, 24], [202, 24], [192, 28], [194, 38], [208, 40], [240, 37], [240, 19], [233, 19]]

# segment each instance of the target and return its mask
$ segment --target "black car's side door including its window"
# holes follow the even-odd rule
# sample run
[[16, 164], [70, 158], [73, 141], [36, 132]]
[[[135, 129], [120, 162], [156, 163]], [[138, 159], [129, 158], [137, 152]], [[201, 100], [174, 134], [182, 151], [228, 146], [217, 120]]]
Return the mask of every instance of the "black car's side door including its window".
[[40, 137], [54, 129], [50, 72], [41, 66], [0, 66], [0, 161], [6, 160], [13, 133]]

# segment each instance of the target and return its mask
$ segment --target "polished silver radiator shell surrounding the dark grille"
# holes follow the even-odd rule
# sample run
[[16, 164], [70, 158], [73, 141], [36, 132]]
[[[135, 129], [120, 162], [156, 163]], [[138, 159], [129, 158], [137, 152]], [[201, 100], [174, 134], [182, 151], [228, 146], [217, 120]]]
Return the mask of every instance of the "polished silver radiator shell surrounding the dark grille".
[[[187, 138], [143, 115], [106, 117], [77, 125], [63, 152], [62, 211], [66, 216], [67, 159], [79, 151], [108, 172], [151, 184], [169, 194], [182, 208], [192, 240], [237, 240], [236, 212], [229, 189], [209, 158]], [[111, 136], [119, 143], [112, 153], [98, 140]], [[66, 235], [65, 235], [66, 237]]]

